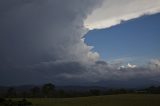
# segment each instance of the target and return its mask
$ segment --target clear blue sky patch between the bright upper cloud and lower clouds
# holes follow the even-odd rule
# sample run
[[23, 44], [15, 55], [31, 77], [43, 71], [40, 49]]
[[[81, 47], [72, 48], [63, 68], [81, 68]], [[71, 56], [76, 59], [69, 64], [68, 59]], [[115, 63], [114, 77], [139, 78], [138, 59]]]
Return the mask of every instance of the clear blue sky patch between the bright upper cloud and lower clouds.
[[160, 14], [147, 15], [106, 29], [91, 30], [85, 42], [94, 46], [100, 57], [125, 64], [145, 64], [160, 57]]

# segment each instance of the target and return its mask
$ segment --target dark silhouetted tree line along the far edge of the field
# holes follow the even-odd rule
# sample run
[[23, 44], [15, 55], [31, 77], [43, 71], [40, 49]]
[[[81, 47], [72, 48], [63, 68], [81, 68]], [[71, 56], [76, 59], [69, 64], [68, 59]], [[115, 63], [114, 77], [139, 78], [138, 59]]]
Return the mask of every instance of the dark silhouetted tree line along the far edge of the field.
[[1, 98], [70, 98], [70, 97], [85, 97], [127, 93], [154, 93], [160, 94], [160, 86], [151, 86], [145, 89], [90, 89], [90, 90], [62, 90], [56, 89], [52, 83], [44, 84], [43, 86], [33, 86], [29, 90], [18, 91], [14, 87], [9, 87], [5, 92], [0, 94]]

